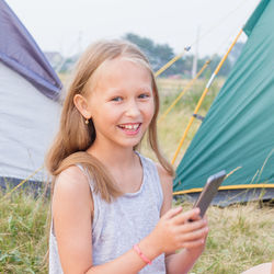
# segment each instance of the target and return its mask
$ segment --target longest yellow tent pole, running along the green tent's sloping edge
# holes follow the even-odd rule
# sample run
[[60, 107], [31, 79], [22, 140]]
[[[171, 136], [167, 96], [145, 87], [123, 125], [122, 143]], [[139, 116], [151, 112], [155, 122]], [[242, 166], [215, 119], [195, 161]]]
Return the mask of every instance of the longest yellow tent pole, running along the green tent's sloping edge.
[[[202, 94], [202, 96], [201, 96], [201, 99], [199, 99], [199, 101], [198, 101], [198, 103], [197, 103], [197, 105], [196, 105], [196, 109], [195, 109], [195, 111], [194, 111], [194, 114], [197, 114], [197, 112], [198, 112], [198, 110], [199, 110], [199, 107], [201, 107], [201, 105], [202, 105], [202, 103], [203, 103], [203, 101], [204, 101], [204, 99], [205, 99], [205, 96], [206, 96], [206, 94], [207, 94], [207, 92], [208, 92], [208, 90], [209, 90], [212, 83], [213, 83], [214, 78], [215, 78], [215, 77], [217, 76], [217, 73], [219, 72], [221, 66], [224, 65], [225, 60], [227, 59], [229, 53], [230, 53], [231, 49], [233, 48], [236, 42], [238, 41], [238, 38], [240, 37], [241, 34], [242, 34], [242, 30], [240, 30], [240, 32], [239, 32], [238, 35], [236, 36], [233, 43], [232, 43], [231, 46], [229, 47], [228, 52], [227, 52], [226, 55], [222, 57], [222, 59], [220, 60], [219, 65], [218, 65], [217, 68], [215, 69], [214, 73], [212, 75], [212, 77], [210, 77], [208, 83], [206, 84], [206, 88], [205, 88], [205, 90], [204, 90], [204, 92], [203, 92], [203, 94]], [[184, 139], [185, 139], [185, 137], [186, 137], [186, 135], [187, 135], [187, 133], [189, 133], [189, 130], [190, 130], [190, 128], [191, 128], [191, 125], [192, 125], [193, 121], [194, 121], [194, 117], [192, 116], [191, 119], [190, 119], [190, 123], [189, 123], [189, 125], [187, 125], [187, 127], [186, 127], [186, 129], [185, 129], [185, 132], [184, 132], [184, 134], [183, 134], [183, 137], [182, 137], [182, 139], [181, 139], [181, 141], [180, 141], [180, 144], [179, 144], [179, 147], [178, 147], [178, 149], [176, 149], [176, 151], [175, 151], [175, 155], [174, 155], [174, 157], [173, 157], [173, 159], [172, 159], [172, 164], [173, 164], [173, 163], [175, 162], [175, 160], [176, 160], [176, 157], [178, 157], [178, 155], [179, 155], [179, 151], [180, 151], [181, 147], [183, 146]]]

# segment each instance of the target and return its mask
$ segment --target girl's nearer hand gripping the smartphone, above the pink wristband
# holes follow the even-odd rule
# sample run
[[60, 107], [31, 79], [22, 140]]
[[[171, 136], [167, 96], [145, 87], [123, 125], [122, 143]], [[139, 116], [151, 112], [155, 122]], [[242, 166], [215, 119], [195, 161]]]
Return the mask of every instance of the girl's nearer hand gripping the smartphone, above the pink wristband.
[[151, 232], [159, 251], [170, 253], [182, 248], [203, 251], [208, 227], [206, 219], [198, 214], [199, 208], [182, 213], [181, 206], [167, 212]]

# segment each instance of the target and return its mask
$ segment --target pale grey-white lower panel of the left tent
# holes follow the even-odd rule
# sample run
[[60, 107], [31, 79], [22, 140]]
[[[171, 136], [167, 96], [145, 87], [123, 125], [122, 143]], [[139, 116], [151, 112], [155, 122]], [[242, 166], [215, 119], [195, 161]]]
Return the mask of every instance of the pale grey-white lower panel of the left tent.
[[61, 107], [1, 62], [0, 83], [0, 176], [25, 179], [43, 165]]

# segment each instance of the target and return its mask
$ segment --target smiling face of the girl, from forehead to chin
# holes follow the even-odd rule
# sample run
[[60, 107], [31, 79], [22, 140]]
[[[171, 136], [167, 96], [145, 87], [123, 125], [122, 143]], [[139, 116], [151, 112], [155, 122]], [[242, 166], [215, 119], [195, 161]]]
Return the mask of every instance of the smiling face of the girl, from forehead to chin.
[[133, 148], [141, 140], [155, 113], [150, 72], [123, 58], [102, 66], [88, 98], [96, 132], [94, 144]]

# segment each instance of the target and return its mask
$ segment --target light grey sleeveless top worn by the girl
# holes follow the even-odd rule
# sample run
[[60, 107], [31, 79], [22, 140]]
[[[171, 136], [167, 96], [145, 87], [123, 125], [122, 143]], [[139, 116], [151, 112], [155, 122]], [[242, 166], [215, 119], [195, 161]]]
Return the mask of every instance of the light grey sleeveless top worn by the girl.
[[[111, 204], [94, 192], [94, 182], [88, 171], [77, 164], [88, 176], [93, 196], [92, 221], [92, 263], [104, 264], [124, 254], [147, 237], [156, 227], [163, 201], [162, 187], [156, 164], [139, 155], [142, 165], [142, 182], [139, 191], [125, 193]], [[146, 251], [144, 250], [146, 254]], [[53, 217], [49, 235], [49, 274], [64, 273], [61, 270], [57, 241], [54, 235]], [[165, 274], [164, 254], [162, 253], [146, 265], [141, 274]]]

